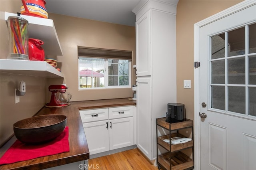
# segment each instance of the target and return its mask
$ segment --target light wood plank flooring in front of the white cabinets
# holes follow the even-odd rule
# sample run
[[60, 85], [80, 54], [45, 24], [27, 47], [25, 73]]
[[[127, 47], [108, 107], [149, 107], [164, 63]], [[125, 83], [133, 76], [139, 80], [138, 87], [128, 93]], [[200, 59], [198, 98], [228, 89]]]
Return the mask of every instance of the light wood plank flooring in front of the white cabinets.
[[88, 160], [88, 170], [158, 170], [138, 148]]

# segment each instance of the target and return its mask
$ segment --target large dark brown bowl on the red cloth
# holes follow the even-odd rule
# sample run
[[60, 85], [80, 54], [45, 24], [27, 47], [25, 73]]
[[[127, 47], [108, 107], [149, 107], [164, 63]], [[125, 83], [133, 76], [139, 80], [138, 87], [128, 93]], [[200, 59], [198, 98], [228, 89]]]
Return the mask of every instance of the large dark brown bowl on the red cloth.
[[14, 123], [13, 130], [18, 140], [38, 144], [58, 137], [66, 124], [67, 117], [64, 115], [42, 115]]

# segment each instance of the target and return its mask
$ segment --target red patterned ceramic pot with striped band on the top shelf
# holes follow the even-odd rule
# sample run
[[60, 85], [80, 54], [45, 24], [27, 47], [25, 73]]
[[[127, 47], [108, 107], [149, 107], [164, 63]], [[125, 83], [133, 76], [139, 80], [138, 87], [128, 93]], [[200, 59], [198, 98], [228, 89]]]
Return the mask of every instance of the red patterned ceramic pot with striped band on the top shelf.
[[22, 6], [20, 13], [22, 15], [36, 16], [40, 18], [48, 18], [48, 12], [45, 8], [44, 0], [21, 0]]

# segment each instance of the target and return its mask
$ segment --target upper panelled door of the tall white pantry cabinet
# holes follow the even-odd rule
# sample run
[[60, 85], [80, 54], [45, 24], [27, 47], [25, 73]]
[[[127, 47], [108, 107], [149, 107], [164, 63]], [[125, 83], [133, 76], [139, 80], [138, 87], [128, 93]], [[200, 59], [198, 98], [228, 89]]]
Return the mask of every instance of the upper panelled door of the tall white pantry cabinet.
[[150, 75], [150, 12], [136, 22], [136, 68], [137, 76]]

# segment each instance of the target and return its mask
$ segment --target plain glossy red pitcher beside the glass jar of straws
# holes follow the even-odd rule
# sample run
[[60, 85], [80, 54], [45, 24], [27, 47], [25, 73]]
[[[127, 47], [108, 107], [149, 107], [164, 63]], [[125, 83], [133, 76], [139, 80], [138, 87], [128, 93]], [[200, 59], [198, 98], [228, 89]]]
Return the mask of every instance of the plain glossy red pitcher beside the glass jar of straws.
[[44, 42], [38, 39], [28, 39], [28, 57], [34, 61], [44, 61], [44, 49], [41, 47]]

